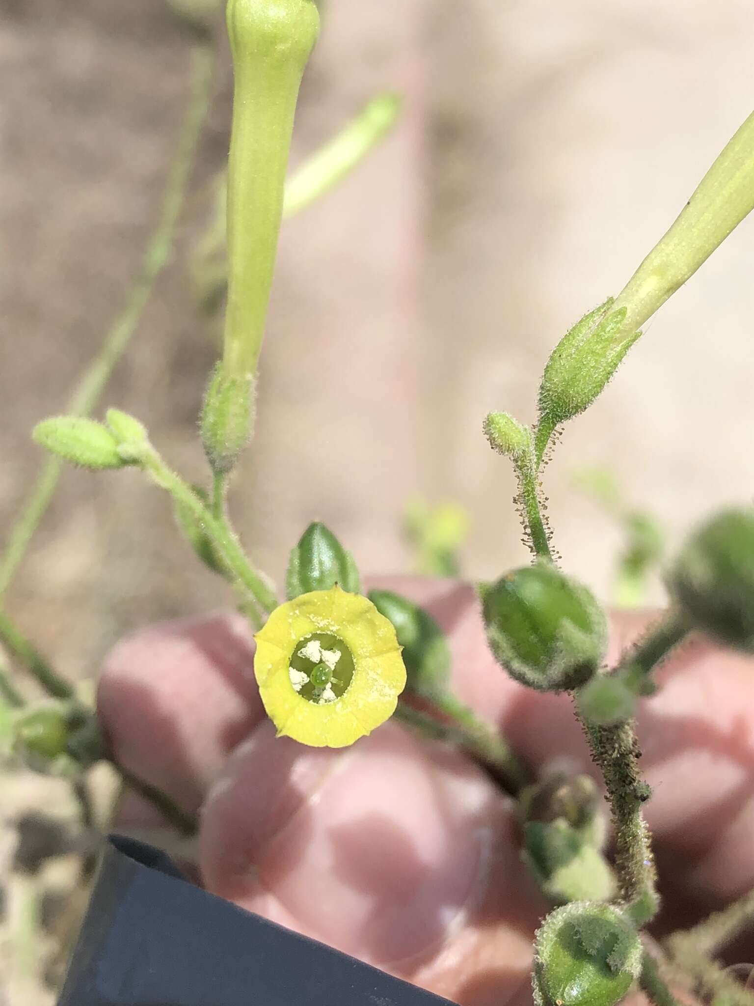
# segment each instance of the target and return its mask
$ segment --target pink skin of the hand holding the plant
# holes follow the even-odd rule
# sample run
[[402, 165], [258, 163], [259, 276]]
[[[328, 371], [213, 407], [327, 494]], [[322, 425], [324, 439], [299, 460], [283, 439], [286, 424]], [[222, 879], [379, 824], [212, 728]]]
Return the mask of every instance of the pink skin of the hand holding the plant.
[[[369, 585], [427, 607], [448, 633], [456, 692], [528, 765], [593, 774], [567, 696], [528, 691], [494, 663], [469, 586]], [[613, 621], [613, 659], [651, 620]], [[547, 905], [520, 865], [510, 799], [395, 723], [344, 751], [275, 738], [252, 655], [239, 616], [196, 618], [123, 640], [100, 683], [118, 758], [201, 813], [204, 885], [460, 1006], [530, 1003], [532, 936]], [[696, 640], [658, 679], [638, 733], [655, 790], [646, 814], [662, 934], [754, 886], [754, 662]], [[135, 805], [124, 813], [148, 820]]]

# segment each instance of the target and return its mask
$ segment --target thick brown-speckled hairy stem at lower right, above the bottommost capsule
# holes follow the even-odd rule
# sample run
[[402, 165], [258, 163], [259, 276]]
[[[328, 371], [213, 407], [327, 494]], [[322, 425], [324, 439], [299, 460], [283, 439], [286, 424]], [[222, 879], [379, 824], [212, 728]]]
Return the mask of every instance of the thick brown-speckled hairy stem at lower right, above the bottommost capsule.
[[641, 810], [650, 791], [638, 773], [636, 733], [631, 722], [596, 726], [576, 715], [607, 788], [621, 898], [635, 925], [644, 926], [659, 909], [659, 896], [651, 838]]

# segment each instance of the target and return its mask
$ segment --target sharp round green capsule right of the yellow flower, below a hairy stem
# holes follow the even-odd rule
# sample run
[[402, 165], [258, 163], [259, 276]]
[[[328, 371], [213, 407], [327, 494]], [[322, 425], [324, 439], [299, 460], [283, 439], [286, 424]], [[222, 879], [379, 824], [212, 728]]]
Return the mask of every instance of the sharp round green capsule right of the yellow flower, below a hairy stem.
[[546, 560], [486, 588], [483, 614], [498, 662], [530, 688], [576, 688], [604, 659], [604, 612], [585, 586]]

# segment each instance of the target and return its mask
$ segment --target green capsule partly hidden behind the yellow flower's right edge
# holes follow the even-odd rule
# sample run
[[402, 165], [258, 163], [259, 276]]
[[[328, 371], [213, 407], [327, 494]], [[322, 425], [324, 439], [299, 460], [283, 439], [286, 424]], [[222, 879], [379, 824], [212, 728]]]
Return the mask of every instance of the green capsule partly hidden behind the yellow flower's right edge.
[[450, 648], [434, 619], [423, 608], [392, 591], [370, 591], [369, 600], [392, 623], [403, 647], [408, 691], [424, 698], [444, 695], [450, 679]]

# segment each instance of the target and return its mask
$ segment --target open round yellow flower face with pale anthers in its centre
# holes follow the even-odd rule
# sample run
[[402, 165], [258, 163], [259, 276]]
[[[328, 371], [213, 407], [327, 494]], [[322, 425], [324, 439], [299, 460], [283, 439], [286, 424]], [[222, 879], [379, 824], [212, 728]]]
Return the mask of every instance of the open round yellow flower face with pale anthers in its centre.
[[339, 586], [280, 605], [254, 639], [254, 674], [277, 735], [313, 747], [371, 733], [406, 684], [392, 624]]

